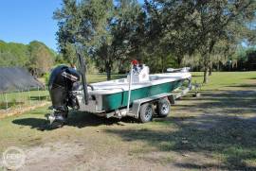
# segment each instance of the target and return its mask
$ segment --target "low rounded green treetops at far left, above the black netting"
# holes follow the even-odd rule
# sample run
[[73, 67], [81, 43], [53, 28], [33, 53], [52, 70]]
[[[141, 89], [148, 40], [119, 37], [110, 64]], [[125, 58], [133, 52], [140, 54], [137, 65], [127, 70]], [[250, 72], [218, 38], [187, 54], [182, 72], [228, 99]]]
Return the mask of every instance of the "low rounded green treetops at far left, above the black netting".
[[27, 68], [34, 76], [49, 72], [56, 53], [46, 44], [33, 41], [29, 44], [0, 41], [0, 66]]

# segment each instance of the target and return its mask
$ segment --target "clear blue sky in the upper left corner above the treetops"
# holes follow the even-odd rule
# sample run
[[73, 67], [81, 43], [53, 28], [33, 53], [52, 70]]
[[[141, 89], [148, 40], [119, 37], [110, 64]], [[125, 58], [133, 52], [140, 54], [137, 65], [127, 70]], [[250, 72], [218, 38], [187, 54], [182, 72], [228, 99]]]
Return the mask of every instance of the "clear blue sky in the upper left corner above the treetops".
[[0, 40], [29, 43], [37, 40], [57, 50], [57, 22], [52, 19], [62, 0], [2, 0]]

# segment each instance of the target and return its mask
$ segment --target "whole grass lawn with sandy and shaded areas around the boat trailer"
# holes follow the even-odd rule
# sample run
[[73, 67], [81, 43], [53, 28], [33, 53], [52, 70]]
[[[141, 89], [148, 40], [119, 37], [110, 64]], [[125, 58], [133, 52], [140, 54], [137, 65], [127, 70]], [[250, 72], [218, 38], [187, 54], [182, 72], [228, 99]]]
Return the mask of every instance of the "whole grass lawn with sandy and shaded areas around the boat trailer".
[[0, 153], [24, 149], [25, 170], [256, 170], [255, 101], [256, 72], [216, 72], [200, 97], [183, 97], [147, 124], [71, 112], [67, 126], [49, 130], [49, 111], [39, 108], [0, 120]]

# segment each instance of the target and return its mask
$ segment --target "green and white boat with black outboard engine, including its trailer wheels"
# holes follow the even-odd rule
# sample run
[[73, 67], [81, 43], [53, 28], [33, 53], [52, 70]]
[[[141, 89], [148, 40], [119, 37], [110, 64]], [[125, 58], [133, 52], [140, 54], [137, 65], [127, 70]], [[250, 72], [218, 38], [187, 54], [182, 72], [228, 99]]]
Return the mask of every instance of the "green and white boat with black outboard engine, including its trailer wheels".
[[[132, 116], [145, 123], [155, 115], [166, 117], [174, 104], [174, 92], [191, 89], [189, 68], [169, 69], [152, 74], [145, 64], [133, 60], [127, 77], [87, 84], [85, 64], [79, 58], [80, 72], [64, 65], [56, 67], [49, 78], [53, 112], [50, 123], [65, 123], [68, 110], [86, 111], [105, 117]], [[185, 83], [187, 82], [187, 83]]]

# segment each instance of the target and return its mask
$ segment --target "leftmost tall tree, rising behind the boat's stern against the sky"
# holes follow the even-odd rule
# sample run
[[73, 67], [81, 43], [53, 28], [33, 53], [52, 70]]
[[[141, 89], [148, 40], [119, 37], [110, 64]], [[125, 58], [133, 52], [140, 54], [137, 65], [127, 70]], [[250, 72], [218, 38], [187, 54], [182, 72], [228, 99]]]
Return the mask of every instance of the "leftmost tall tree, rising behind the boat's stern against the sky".
[[64, 0], [62, 9], [57, 9], [54, 18], [58, 21], [57, 32], [60, 51], [64, 59], [73, 62], [76, 58], [76, 44], [82, 45], [85, 57], [101, 55], [105, 68], [111, 71], [108, 45], [111, 42], [108, 22], [111, 21], [113, 4], [111, 1]]

